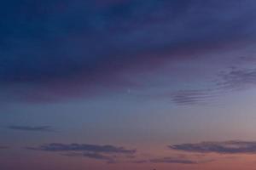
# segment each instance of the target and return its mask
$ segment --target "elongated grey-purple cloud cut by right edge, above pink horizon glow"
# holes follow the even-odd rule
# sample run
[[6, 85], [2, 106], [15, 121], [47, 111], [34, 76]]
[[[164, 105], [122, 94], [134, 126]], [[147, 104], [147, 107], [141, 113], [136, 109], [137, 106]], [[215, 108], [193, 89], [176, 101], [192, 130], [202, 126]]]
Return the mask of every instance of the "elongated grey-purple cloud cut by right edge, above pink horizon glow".
[[225, 142], [201, 142], [198, 144], [173, 144], [172, 150], [199, 153], [218, 154], [256, 154], [256, 142], [252, 141], [225, 141]]

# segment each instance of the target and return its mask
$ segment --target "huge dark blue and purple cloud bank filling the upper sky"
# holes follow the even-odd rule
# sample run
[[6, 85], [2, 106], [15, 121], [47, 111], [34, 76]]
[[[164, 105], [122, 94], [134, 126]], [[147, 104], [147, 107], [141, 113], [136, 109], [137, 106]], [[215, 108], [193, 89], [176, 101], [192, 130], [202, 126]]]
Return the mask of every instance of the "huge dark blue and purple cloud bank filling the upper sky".
[[[253, 43], [254, 6], [253, 0], [4, 2], [3, 94], [51, 101], [148, 87], [134, 80], [139, 73]], [[191, 104], [203, 96], [173, 100]]]

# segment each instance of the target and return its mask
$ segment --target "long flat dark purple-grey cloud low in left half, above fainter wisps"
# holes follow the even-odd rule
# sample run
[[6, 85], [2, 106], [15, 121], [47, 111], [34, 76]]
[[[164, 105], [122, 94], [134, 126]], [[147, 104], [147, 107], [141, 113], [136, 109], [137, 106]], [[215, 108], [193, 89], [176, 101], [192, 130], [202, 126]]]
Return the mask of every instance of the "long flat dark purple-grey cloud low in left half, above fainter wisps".
[[128, 150], [124, 147], [117, 147], [113, 145], [97, 145], [97, 144], [43, 144], [38, 147], [29, 147], [32, 150], [44, 151], [90, 151], [95, 153], [108, 154], [134, 154], [136, 150]]

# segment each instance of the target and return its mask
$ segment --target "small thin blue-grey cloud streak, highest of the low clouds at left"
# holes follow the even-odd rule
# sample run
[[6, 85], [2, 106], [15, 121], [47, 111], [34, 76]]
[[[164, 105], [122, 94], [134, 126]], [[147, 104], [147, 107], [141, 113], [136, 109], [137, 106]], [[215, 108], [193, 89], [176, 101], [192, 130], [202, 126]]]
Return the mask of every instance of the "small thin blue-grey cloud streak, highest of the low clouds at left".
[[9, 126], [8, 128], [12, 130], [19, 130], [19, 131], [54, 132], [54, 129], [50, 126], [38, 126], [38, 127]]

